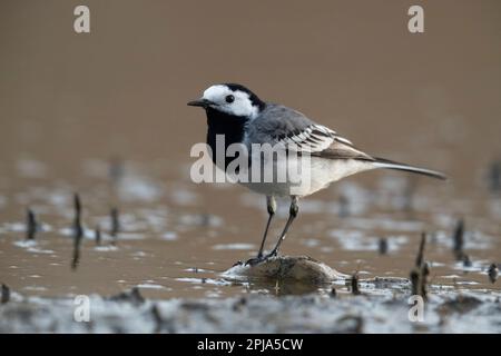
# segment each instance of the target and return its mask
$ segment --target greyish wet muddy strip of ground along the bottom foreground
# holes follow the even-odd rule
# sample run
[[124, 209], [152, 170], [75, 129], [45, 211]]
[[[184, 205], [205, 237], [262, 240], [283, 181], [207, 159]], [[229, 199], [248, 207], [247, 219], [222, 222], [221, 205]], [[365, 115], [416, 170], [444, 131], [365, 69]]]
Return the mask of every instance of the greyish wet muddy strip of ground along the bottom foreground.
[[[238, 297], [145, 299], [140, 289], [90, 296], [90, 322], [76, 322], [72, 298], [13, 294], [0, 306], [1, 333], [501, 333], [501, 293], [429, 287], [422, 314], [411, 310], [409, 280], [346, 280], [321, 293], [271, 295], [256, 285]], [[284, 285], [276, 285], [279, 294]], [[297, 289], [297, 287], [291, 287]], [[334, 288], [333, 291], [330, 288]], [[79, 304], [80, 305], [80, 304]], [[77, 312], [76, 312], [77, 310]], [[411, 315], [411, 316], [410, 316]]]

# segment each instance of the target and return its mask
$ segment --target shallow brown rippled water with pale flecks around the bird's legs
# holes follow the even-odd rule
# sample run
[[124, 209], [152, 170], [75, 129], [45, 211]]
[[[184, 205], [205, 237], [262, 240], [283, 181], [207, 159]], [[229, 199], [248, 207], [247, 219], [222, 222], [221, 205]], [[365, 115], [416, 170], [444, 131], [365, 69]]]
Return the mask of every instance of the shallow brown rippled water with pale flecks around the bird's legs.
[[[138, 286], [154, 298], [219, 298], [249, 289], [276, 293], [220, 277], [235, 261], [255, 255], [266, 219], [264, 198], [238, 186], [203, 191], [183, 177], [165, 181], [147, 165], [125, 162], [119, 177], [110, 177], [106, 169], [99, 176], [89, 169], [92, 165], [108, 166], [106, 161], [86, 164], [77, 178], [86, 181], [86, 188], [79, 190], [85, 238], [76, 271], [70, 263], [72, 192], [77, 187], [50, 176], [42, 180], [19, 177], [17, 191], [2, 196], [1, 280], [13, 290], [56, 297], [111, 295]], [[416, 188], [409, 196], [405, 175], [374, 174], [372, 178], [373, 189], [371, 182], [345, 180], [305, 199], [283, 253], [308, 255], [341, 273], [357, 273], [361, 279], [409, 277], [421, 233], [426, 231], [425, 259], [432, 284], [499, 289], [499, 281], [491, 283], [487, 273], [492, 263], [501, 260], [498, 197], [459, 196], [451, 184], [426, 178], [413, 180]], [[57, 182], [48, 184], [52, 180]], [[341, 194], [344, 199], [338, 198]], [[461, 201], [461, 214], [451, 212], [454, 201]], [[26, 240], [27, 206], [40, 225], [35, 240]], [[110, 236], [111, 207], [119, 208], [116, 244]], [[287, 201], [282, 201], [269, 246], [286, 214]], [[458, 261], [453, 254], [460, 216], [466, 217], [464, 253], [471, 264]], [[99, 246], [97, 226], [101, 229]], [[385, 254], [380, 250], [382, 238]]]

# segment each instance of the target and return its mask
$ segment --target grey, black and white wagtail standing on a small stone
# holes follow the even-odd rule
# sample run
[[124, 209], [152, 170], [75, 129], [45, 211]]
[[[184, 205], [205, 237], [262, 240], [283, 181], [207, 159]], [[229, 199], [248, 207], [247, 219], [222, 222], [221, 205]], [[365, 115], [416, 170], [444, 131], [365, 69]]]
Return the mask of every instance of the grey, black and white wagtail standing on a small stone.
[[[412, 167], [394, 162], [387, 159], [370, 156], [353, 146], [353, 144], [341, 137], [336, 131], [318, 125], [303, 113], [282, 105], [261, 100], [254, 92], [242, 85], [223, 83], [209, 87], [204, 91], [200, 99], [188, 102], [189, 106], [202, 107], [207, 113], [207, 144], [212, 149], [213, 161], [218, 165], [215, 157], [216, 137], [225, 138], [226, 149], [232, 144], [240, 144], [248, 147], [254, 144], [282, 144], [285, 147], [294, 145], [299, 154], [307, 152], [311, 156], [311, 182], [305, 189], [291, 194], [287, 184], [252, 182], [246, 186], [254, 191], [266, 195], [268, 219], [266, 222], [263, 240], [256, 258], [249, 259], [248, 264], [256, 264], [271, 256], [276, 256], [293, 220], [298, 212], [298, 199], [308, 196], [320, 189], [326, 188], [331, 182], [344, 177], [375, 168], [397, 169], [429, 177], [445, 179], [445, 176], [433, 170]], [[235, 159], [225, 155], [225, 170], [228, 164]], [[287, 222], [278, 237], [273, 250], [263, 255], [266, 235], [269, 224], [275, 215], [275, 197], [291, 197], [291, 208]]]

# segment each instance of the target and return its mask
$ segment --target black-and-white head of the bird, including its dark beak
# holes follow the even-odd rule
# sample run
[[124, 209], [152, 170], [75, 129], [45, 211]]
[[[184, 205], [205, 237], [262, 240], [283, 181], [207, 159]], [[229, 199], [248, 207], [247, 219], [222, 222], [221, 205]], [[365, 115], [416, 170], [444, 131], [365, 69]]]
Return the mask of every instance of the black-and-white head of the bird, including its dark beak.
[[255, 119], [265, 107], [254, 92], [235, 83], [212, 86], [200, 99], [189, 101], [188, 105], [248, 119]]

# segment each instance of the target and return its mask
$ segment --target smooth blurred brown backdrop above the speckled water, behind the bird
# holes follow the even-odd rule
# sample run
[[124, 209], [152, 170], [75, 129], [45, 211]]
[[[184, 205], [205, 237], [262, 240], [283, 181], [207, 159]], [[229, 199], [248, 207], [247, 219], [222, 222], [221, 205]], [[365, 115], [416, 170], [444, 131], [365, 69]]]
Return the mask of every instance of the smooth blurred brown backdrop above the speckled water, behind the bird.
[[[73, 32], [79, 3], [90, 34]], [[424, 34], [406, 29], [414, 3]], [[495, 0], [1, 1], [0, 169], [189, 162], [205, 120], [186, 102], [235, 81], [470, 185], [500, 154], [500, 38]]]

